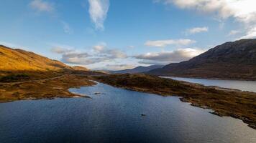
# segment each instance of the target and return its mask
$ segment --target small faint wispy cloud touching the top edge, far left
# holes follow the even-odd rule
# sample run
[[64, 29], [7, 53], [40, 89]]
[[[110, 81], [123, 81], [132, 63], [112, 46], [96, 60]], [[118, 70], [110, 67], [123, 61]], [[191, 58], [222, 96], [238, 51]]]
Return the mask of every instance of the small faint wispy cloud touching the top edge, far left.
[[42, 1], [42, 0], [33, 0], [29, 3], [29, 6], [32, 9], [35, 9], [36, 11], [46, 11], [46, 12], [52, 12], [54, 11], [54, 6], [53, 4], [47, 2], [47, 1]]

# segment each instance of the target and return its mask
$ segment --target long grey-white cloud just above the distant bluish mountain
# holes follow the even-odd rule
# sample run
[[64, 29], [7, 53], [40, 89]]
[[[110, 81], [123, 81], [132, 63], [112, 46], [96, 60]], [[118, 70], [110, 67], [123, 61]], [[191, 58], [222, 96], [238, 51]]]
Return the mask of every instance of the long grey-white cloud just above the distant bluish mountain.
[[186, 61], [194, 56], [204, 53], [203, 49], [177, 49], [175, 51], [161, 51], [155, 53], [140, 54], [134, 56], [136, 59], [142, 59], [141, 64], [170, 64], [180, 61]]

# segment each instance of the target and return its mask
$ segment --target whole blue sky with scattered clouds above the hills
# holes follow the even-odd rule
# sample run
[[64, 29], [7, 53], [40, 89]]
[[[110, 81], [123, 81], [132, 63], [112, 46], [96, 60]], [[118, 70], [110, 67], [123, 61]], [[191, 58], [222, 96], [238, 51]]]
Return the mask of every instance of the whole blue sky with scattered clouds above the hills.
[[186, 61], [256, 38], [255, 0], [0, 0], [0, 44], [70, 66]]

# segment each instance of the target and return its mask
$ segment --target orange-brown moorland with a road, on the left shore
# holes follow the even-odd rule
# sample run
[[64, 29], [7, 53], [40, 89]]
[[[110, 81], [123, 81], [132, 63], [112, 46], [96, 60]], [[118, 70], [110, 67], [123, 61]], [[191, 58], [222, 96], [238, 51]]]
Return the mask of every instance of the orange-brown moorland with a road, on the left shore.
[[0, 102], [22, 99], [53, 99], [55, 97], [86, 97], [73, 94], [70, 88], [95, 84], [81, 74], [65, 74], [52, 79], [0, 84]]

